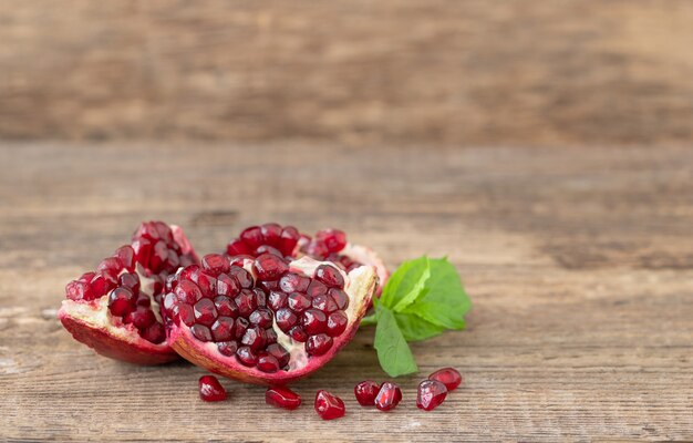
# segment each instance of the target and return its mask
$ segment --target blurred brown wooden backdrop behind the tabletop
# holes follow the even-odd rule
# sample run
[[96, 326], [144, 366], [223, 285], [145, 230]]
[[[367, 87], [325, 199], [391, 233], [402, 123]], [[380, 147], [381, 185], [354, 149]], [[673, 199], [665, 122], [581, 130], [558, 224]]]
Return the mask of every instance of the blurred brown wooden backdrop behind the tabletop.
[[0, 138], [693, 140], [693, 1], [0, 2]]

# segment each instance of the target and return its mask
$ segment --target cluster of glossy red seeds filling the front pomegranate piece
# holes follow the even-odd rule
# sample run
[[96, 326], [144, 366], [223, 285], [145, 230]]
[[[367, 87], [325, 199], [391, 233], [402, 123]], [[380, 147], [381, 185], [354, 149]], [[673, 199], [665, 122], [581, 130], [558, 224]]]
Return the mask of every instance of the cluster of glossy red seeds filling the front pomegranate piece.
[[203, 342], [262, 372], [287, 370], [289, 352], [277, 343], [275, 322], [311, 356], [330, 350], [346, 329], [349, 297], [344, 279], [330, 265], [312, 277], [289, 270], [283, 258], [261, 254], [252, 274], [211, 254], [201, 266], [188, 266], [169, 284], [164, 309]]

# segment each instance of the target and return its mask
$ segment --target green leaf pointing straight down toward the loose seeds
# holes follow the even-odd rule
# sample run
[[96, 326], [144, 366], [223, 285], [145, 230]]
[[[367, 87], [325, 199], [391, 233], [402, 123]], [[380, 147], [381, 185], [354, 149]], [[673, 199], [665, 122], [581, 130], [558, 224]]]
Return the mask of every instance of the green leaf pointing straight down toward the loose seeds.
[[390, 377], [400, 377], [418, 371], [412, 350], [397, 321], [390, 309], [382, 303], [376, 306], [377, 327], [375, 329], [374, 347], [377, 351], [377, 360]]

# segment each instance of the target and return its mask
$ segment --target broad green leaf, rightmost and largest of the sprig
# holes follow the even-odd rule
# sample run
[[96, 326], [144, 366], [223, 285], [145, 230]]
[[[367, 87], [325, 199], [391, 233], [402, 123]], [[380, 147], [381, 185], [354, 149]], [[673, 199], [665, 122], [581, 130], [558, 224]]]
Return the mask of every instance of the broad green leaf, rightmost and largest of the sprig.
[[457, 269], [447, 258], [430, 259], [431, 277], [416, 300], [403, 310], [446, 329], [464, 329], [464, 315], [472, 301], [462, 286]]

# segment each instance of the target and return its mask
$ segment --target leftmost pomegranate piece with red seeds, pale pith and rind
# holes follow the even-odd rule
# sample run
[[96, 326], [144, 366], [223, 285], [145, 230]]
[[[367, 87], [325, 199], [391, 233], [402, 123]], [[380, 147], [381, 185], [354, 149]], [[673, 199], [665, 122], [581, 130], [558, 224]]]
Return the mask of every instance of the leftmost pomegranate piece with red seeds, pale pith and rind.
[[102, 356], [139, 364], [175, 360], [159, 312], [162, 290], [168, 275], [195, 262], [197, 256], [179, 227], [143, 223], [132, 245], [68, 284], [58, 318], [76, 340]]

